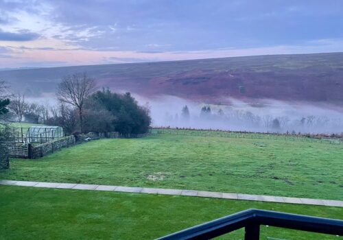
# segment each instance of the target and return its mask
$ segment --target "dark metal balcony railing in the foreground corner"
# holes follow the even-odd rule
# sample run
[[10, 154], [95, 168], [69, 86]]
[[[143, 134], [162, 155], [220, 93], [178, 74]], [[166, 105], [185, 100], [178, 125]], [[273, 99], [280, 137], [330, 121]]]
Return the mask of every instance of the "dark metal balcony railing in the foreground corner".
[[160, 239], [212, 239], [239, 228], [245, 228], [244, 239], [257, 240], [261, 225], [343, 236], [342, 220], [248, 209]]

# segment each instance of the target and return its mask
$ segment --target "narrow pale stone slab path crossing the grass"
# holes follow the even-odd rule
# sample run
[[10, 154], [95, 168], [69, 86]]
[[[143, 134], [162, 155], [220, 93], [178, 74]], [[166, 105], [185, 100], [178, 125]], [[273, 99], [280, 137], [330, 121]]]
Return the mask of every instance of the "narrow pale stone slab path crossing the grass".
[[287, 204], [307, 204], [319, 206], [340, 206], [343, 207], [343, 201], [338, 200], [319, 200], [299, 197], [277, 197], [268, 195], [251, 195], [241, 193], [220, 193], [211, 191], [181, 190], [181, 189], [150, 189], [145, 187], [121, 187], [96, 184], [76, 184], [60, 182], [27, 182], [0, 180], [0, 185], [25, 186], [25, 187], [46, 187], [50, 189], [80, 189], [93, 191], [116, 191], [126, 193], [153, 193], [165, 195], [183, 195], [193, 197], [213, 197], [232, 200], [249, 200], [259, 202], [281, 202]]

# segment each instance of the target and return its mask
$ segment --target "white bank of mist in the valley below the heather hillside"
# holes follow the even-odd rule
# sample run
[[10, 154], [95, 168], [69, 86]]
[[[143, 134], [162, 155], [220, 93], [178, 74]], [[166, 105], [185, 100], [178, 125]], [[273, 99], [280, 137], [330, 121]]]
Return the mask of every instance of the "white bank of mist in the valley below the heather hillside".
[[[163, 95], [154, 99], [136, 96], [150, 108], [152, 126], [170, 128], [219, 129], [247, 132], [342, 134], [343, 110], [336, 106], [291, 104], [264, 100], [252, 104], [229, 99], [230, 105], [208, 105], [180, 97]], [[189, 108], [189, 117], [182, 108]], [[211, 112], [202, 112], [203, 107]]]

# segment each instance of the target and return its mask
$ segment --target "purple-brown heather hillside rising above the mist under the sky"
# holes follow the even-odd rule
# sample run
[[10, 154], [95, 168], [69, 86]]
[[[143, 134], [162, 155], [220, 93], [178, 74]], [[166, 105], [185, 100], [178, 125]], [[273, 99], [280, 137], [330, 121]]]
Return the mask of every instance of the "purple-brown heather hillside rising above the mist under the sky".
[[101, 86], [143, 96], [207, 101], [279, 99], [343, 103], [343, 53], [248, 56], [0, 71], [27, 96], [53, 93], [63, 75], [88, 73]]

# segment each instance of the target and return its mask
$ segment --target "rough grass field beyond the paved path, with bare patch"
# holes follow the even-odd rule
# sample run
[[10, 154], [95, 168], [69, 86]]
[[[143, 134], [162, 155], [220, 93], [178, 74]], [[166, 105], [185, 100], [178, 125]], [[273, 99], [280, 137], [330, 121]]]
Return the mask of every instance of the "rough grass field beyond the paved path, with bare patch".
[[157, 134], [11, 160], [0, 179], [343, 200], [342, 156], [343, 145]]

